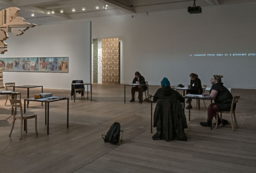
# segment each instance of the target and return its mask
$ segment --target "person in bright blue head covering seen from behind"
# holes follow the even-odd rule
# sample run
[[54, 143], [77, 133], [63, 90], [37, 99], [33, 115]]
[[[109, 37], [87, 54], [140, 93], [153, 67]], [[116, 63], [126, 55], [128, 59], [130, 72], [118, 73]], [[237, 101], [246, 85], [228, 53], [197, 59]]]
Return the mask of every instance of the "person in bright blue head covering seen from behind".
[[176, 90], [173, 90], [170, 88], [170, 82], [167, 78], [164, 78], [161, 81], [162, 88], [159, 88], [154, 97], [153, 101], [156, 102], [158, 99], [161, 100], [179, 100], [181, 102], [184, 102], [184, 98], [181, 94], [179, 94]]

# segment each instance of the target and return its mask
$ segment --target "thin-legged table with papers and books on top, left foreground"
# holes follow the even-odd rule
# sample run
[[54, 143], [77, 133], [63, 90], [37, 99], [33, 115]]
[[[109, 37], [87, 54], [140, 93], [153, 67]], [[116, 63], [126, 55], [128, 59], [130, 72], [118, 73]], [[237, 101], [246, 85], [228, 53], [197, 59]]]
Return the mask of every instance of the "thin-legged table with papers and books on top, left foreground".
[[[54, 101], [60, 101], [60, 100], [67, 100], [67, 128], [69, 128], [69, 98], [55, 98], [55, 99], [48, 99], [48, 100], [43, 100], [43, 99], [24, 99], [24, 113], [26, 113], [26, 101], [37, 101], [37, 102], [43, 102], [45, 103], [45, 124], [46, 124], [46, 110], [47, 110], [47, 134], [49, 134], [49, 103], [54, 102]], [[46, 104], [47, 103], [47, 104]], [[25, 127], [25, 124], [24, 124]]]

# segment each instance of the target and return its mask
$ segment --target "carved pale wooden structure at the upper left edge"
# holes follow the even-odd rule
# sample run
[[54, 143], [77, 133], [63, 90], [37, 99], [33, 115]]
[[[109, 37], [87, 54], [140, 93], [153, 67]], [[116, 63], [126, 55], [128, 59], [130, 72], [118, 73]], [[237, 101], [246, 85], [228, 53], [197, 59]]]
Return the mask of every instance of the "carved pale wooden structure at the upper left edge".
[[7, 51], [7, 44], [4, 42], [8, 39], [8, 33], [22, 35], [30, 27], [36, 26], [25, 22], [23, 17], [18, 17], [20, 9], [10, 7], [0, 11], [0, 52], [4, 54]]

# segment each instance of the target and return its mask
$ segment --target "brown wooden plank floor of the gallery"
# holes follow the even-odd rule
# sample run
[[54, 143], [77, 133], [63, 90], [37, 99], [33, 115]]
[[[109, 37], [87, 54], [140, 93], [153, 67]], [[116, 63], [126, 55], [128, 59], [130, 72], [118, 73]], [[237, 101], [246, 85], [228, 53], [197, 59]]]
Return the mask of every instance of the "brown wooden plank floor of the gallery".
[[[150, 86], [154, 94], [158, 86]], [[26, 90], [17, 89], [26, 97]], [[50, 90], [54, 96], [70, 97], [68, 90]], [[30, 97], [40, 89], [31, 89]], [[256, 172], [256, 91], [233, 89], [241, 94], [236, 107], [239, 129], [231, 125], [213, 129], [200, 126], [206, 121], [206, 108], [193, 109], [191, 121], [185, 110], [188, 141], [153, 141], [150, 133], [150, 103], [124, 103], [124, 85], [93, 84], [92, 102], [70, 100], [67, 129], [67, 101], [50, 103], [50, 134], [46, 134], [44, 108], [31, 102], [30, 113], [37, 114], [28, 133], [19, 140], [20, 121], [12, 136], [10, 103], [0, 97], [0, 172]], [[209, 102], [206, 102], [209, 104]], [[155, 104], [154, 104], [155, 105]], [[202, 104], [201, 104], [202, 105]], [[224, 117], [230, 121], [227, 115]], [[113, 122], [124, 130], [122, 145], [103, 142]]]

